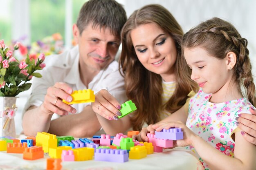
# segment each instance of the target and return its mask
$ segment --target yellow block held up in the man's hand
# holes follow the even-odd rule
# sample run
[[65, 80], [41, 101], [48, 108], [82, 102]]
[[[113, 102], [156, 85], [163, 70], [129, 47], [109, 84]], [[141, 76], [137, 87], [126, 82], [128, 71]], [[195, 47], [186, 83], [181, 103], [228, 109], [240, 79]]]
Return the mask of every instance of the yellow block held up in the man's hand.
[[73, 91], [71, 94], [72, 102], [67, 102], [64, 99], [62, 100], [66, 104], [78, 104], [78, 103], [88, 103], [88, 102], [94, 102], [95, 101], [95, 95], [93, 94], [93, 91], [91, 89], [87, 90], [79, 90], [79, 91]]

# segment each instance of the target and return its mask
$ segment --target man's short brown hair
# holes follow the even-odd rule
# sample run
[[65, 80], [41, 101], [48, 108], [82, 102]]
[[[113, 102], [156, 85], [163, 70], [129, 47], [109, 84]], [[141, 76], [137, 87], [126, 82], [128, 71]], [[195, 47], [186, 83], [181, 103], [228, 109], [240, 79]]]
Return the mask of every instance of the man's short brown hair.
[[80, 35], [86, 26], [92, 24], [92, 28], [110, 29], [113, 35], [120, 37], [126, 20], [124, 8], [115, 0], [89, 0], [83, 4], [76, 24]]

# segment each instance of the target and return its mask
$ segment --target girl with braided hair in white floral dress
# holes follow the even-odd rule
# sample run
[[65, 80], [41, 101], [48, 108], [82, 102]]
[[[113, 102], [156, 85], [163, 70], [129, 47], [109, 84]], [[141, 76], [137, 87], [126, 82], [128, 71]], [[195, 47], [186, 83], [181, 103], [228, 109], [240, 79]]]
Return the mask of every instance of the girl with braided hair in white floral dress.
[[205, 170], [255, 170], [256, 146], [243, 138], [236, 121], [256, 105], [247, 40], [229, 22], [213, 18], [187, 32], [182, 49], [200, 86], [189, 101], [186, 126], [163, 122], [186, 115], [180, 111], [148, 129], [182, 128], [184, 139], [176, 146], [195, 150]]

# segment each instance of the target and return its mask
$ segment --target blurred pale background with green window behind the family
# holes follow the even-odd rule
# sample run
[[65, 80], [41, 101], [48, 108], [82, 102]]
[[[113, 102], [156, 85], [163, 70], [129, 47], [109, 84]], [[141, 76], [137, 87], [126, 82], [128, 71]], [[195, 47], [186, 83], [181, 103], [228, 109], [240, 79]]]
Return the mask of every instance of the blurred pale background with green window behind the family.
[[[248, 49], [256, 75], [256, 1], [255, 0], [117, 0], [127, 16], [146, 4], [166, 7], [183, 28], [184, 33], [201, 21], [219, 17], [234, 24]], [[30, 53], [46, 55], [70, 49], [72, 24], [86, 0], [0, 0], [0, 40], [5, 44], [21, 42]], [[100, 12], [100, 11], [99, 11]], [[254, 77], [255, 79], [255, 77]], [[30, 91], [18, 95], [16, 132], [22, 131], [21, 113]]]

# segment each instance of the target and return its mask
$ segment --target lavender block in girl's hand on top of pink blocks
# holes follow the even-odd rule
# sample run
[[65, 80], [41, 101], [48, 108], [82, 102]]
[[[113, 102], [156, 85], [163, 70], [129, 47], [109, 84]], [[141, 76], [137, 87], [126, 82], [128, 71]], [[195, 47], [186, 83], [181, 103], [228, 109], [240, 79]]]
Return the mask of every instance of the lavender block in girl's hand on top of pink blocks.
[[160, 132], [155, 131], [155, 138], [180, 140], [183, 139], [183, 132], [181, 131], [181, 128], [163, 129]]

